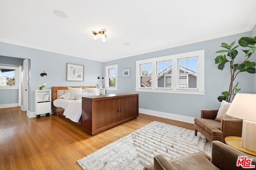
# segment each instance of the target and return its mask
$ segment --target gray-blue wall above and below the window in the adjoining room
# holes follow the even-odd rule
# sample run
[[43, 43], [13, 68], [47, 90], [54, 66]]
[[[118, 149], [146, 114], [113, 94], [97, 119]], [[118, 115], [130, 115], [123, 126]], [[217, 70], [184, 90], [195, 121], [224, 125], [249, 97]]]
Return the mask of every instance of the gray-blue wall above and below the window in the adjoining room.
[[[11, 66], [22, 66], [23, 59], [0, 56], [0, 64], [8, 64]], [[0, 89], [0, 105], [18, 103], [18, 89], [2, 90]]]

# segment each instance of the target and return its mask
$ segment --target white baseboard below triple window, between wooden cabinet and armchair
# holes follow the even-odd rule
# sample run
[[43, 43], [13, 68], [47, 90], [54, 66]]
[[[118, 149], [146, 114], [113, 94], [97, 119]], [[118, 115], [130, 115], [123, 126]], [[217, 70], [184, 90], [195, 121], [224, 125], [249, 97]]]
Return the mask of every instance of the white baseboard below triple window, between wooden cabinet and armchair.
[[163, 117], [163, 118], [172, 119], [172, 120], [184, 121], [187, 123], [194, 124], [194, 117], [190, 117], [190, 116], [176, 115], [176, 114], [172, 114], [172, 113], [166, 113], [166, 112], [154, 111], [154, 110], [148, 110], [148, 109], [141, 109], [141, 108], [139, 108], [139, 113], [157, 116], [157, 117]]

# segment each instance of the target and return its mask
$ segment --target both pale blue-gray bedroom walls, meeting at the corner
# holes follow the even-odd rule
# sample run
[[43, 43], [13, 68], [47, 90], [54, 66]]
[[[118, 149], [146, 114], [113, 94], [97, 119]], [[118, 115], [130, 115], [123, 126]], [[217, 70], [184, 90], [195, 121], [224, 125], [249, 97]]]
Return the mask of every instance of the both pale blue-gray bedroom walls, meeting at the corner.
[[[0, 42], [0, 55], [6, 57], [15, 57], [21, 59], [30, 59], [29, 63], [29, 101], [28, 110], [34, 111], [34, 90], [43, 83], [46, 83], [45, 89], [51, 89], [52, 86], [96, 86], [97, 83], [104, 82], [98, 80], [99, 75], [105, 75], [105, 66], [118, 64], [118, 90], [107, 90], [107, 94], [112, 93], [136, 93], [136, 61], [149, 59], [154, 57], [162, 57], [177, 53], [185, 53], [190, 51], [205, 49], [205, 94], [165, 94], [165, 93], [150, 93], [139, 92], [140, 108], [154, 111], [185, 115], [190, 117], [200, 116], [201, 109], [219, 108], [220, 102], [217, 97], [222, 91], [228, 90], [229, 70], [218, 70], [217, 64], [214, 64], [214, 59], [217, 56], [216, 51], [220, 50], [220, 44], [226, 42], [228, 44], [236, 41], [240, 37], [256, 35], [256, 27], [250, 32], [240, 33], [209, 41], [203, 41], [190, 45], [174, 47], [161, 51], [154, 51], [142, 55], [127, 57], [109, 62], [97, 62], [88, 59], [81, 59], [67, 55], [51, 53], [47, 51], [21, 47], [8, 43]], [[244, 59], [241, 48], [238, 49], [239, 54], [237, 59]], [[255, 61], [254, 57], [251, 61]], [[0, 62], [1, 63], [1, 62]], [[66, 63], [84, 65], [84, 82], [68, 82], [66, 81]], [[130, 77], [122, 77], [122, 69], [130, 68]], [[46, 71], [48, 76], [41, 77], [40, 73]], [[228, 77], [228, 78], [227, 78]], [[240, 73], [236, 79], [239, 82], [239, 87], [242, 93], [256, 93], [256, 75], [248, 73]], [[6, 94], [6, 93], [5, 93]], [[183, 101], [183, 102], [180, 102]], [[1, 103], [0, 103], [1, 104]], [[186, 106], [186, 107], [184, 107]]]

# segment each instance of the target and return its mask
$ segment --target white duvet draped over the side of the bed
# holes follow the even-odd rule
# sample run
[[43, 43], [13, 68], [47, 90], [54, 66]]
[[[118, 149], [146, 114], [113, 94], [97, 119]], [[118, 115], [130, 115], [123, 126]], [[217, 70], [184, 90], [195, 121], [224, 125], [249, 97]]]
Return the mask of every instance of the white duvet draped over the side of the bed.
[[74, 121], [78, 122], [82, 115], [82, 99], [80, 100], [66, 100], [56, 99], [53, 101], [55, 107], [62, 107], [64, 110], [63, 115]]

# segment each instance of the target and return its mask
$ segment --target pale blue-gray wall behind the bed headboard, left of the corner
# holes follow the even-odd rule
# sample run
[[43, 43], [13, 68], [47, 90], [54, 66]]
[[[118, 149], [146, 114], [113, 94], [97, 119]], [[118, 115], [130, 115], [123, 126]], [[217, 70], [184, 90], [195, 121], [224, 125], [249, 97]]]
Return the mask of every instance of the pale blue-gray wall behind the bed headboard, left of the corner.
[[[96, 86], [97, 77], [104, 72], [103, 63], [12, 45], [0, 42], [0, 55], [29, 59], [28, 110], [34, 111], [34, 90], [46, 83], [45, 89], [52, 86]], [[66, 63], [84, 65], [84, 81], [66, 81]], [[40, 76], [45, 71], [46, 77]]]

